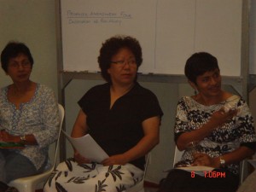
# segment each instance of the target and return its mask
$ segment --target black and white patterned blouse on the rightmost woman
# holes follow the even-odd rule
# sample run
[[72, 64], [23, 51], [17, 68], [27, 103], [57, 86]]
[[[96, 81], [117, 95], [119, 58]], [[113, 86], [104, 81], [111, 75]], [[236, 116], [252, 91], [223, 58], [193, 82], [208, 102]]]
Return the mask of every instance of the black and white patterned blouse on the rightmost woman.
[[[212, 131], [205, 137], [196, 150], [208, 154], [210, 157], [217, 157], [230, 153], [241, 145], [253, 146], [256, 142], [256, 135], [253, 125], [253, 117], [249, 111], [247, 103], [240, 96], [230, 96], [224, 102], [212, 106], [204, 106], [195, 102], [190, 96], [184, 96], [177, 104], [176, 123], [174, 128], [175, 140], [185, 131], [199, 129], [201, 125], [207, 123], [212, 113], [220, 108], [237, 108], [238, 112], [233, 119]], [[193, 162], [191, 150], [185, 150], [182, 160], [177, 165], [187, 165]], [[239, 173], [238, 164], [227, 166], [230, 172]]]

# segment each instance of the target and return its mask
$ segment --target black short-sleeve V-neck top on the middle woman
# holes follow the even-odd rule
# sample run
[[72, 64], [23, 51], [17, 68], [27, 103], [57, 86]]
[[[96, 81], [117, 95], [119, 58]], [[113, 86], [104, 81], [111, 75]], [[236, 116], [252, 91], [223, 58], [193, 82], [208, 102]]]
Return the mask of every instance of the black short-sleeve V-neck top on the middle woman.
[[[143, 137], [145, 119], [162, 116], [157, 97], [136, 83], [110, 108], [110, 84], [100, 84], [88, 90], [79, 100], [79, 106], [87, 116], [91, 137], [111, 156], [123, 154]], [[130, 162], [144, 169], [142, 157]]]

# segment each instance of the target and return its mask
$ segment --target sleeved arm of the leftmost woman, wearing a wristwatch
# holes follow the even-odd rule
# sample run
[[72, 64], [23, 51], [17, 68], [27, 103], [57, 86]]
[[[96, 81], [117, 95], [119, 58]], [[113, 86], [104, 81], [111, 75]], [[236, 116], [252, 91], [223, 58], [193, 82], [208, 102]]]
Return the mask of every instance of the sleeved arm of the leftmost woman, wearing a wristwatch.
[[[26, 145], [38, 145], [44, 148], [53, 143], [58, 137], [59, 113], [55, 95], [52, 90], [41, 85], [38, 89], [37, 100], [26, 105], [22, 111], [20, 120], [24, 125], [19, 127], [15, 134], [6, 130], [0, 133], [5, 142], [25, 143]], [[20, 137], [25, 137], [21, 141]]]

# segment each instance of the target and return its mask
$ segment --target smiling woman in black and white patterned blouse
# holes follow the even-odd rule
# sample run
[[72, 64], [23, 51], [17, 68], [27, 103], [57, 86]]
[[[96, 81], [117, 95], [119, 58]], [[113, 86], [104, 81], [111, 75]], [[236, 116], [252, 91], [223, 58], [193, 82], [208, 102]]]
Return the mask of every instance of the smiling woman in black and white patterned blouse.
[[159, 192], [235, 192], [239, 162], [255, 152], [253, 117], [240, 96], [221, 89], [214, 56], [195, 53], [185, 75], [195, 96], [177, 103], [174, 128], [177, 148], [184, 152]]

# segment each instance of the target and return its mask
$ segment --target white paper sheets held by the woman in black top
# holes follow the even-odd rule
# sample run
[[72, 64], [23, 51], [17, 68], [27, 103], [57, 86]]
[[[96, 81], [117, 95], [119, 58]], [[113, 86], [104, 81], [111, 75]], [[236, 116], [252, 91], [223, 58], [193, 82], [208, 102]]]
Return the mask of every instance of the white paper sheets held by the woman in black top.
[[67, 135], [67, 133], [61, 130], [67, 140], [73, 145], [73, 148], [76, 148], [79, 154], [83, 155], [86, 159], [89, 159], [93, 162], [100, 163], [102, 160], [107, 159], [108, 154], [101, 148], [101, 146], [96, 143], [96, 141], [86, 134], [83, 137], [73, 138]]

